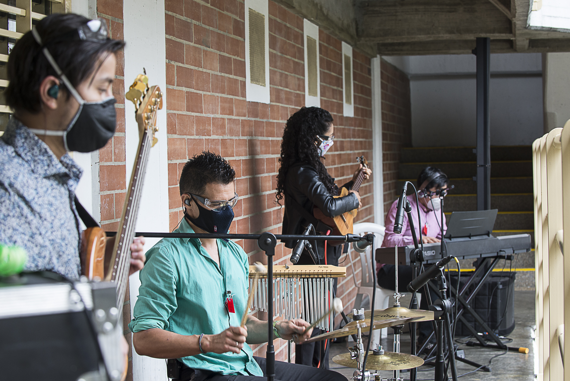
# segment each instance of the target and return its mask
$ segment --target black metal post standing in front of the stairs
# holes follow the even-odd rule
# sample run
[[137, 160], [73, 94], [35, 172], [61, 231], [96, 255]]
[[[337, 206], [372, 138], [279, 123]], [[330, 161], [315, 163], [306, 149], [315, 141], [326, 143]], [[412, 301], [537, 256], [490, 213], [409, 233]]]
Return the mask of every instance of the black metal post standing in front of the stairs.
[[478, 37], [477, 47], [477, 210], [491, 209], [491, 133], [489, 81], [491, 39]]

